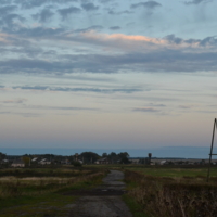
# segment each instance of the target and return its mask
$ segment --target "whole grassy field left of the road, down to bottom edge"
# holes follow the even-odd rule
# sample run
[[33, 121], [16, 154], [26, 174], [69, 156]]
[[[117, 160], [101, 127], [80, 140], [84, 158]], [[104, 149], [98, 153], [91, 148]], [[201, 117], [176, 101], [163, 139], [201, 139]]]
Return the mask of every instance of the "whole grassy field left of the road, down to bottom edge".
[[105, 169], [42, 168], [0, 170], [0, 217], [67, 216], [75, 196], [64, 192], [101, 183]]

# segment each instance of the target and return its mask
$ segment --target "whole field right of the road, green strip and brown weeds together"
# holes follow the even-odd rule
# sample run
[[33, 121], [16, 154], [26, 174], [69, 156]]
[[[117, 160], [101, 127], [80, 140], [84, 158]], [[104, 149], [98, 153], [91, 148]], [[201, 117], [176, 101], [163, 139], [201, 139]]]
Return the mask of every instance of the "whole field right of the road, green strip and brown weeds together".
[[145, 217], [216, 217], [217, 168], [210, 175], [207, 183], [205, 167], [125, 167], [127, 196]]

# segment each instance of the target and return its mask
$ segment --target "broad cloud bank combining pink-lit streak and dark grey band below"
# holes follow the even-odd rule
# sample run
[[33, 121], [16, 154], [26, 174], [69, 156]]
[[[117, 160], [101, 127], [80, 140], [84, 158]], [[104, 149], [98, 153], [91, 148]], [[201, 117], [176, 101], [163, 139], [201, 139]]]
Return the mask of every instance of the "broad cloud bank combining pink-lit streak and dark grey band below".
[[[182, 39], [175, 35], [164, 38], [151, 38], [140, 35], [100, 34], [90, 28], [101, 29], [102, 26], [90, 26], [67, 33], [65, 29], [37, 27], [21, 28], [21, 38], [36, 38], [51, 41], [51, 44], [66, 44], [67, 54], [60, 50], [51, 52], [44, 59], [42, 49], [36, 46], [25, 46], [15, 49], [13, 54], [25, 53], [20, 58], [8, 55], [0, 61], [0, 74], [31, 73], [31, 74], [66, 74], [66, 73], [118, 73], [118, 72], [213, 72], [217, 71], [217, 38]], [[1, 35], [0, 40], [9, 39]], [[18, 37], [14, 36], [14, 40]], [[10, 38], [12, 40], [13, 38]], [[31, 40], [34, 41], [34, 40]], [[60, 42], [59, 42], [60, 41]], [[16, 41], [14, 41], [14, 44]], [[2, 42], [3, 43], [3, 42]], [[17, 42], [18, 43], [18, 42]], [[37, 44], [37, 43], [36, 43]], [[85, 51], [75, 51], [85, 47]], [[72, 50], [73, 48], [73, 50]], [[52, 47], [52, 50], [55, 46]], [[48, 50], [49, 51], [49, 50]], [[94, 51], [95, 53], [92, 53]], [[2, 50], [7, 52], [7, 49]], [[29, 55], [28, 55], [29, 53]], [[30, 53], [31, 56], [30, 56]], [[40, 55], [41, 53], [41, 55]]]

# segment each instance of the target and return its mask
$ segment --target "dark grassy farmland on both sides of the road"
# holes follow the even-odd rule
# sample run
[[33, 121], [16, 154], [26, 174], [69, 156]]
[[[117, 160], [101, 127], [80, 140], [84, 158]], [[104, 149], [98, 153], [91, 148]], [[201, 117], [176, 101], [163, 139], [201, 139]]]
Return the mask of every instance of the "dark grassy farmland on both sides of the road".
[[80, 168], [22, 168], [0, 170], [0, 217], [68, 216], [79, 195], [102, 183], [110, 169], [125, 173], [123, 200], [133, 217], [215, 217], [217, 167], [87, 165]]

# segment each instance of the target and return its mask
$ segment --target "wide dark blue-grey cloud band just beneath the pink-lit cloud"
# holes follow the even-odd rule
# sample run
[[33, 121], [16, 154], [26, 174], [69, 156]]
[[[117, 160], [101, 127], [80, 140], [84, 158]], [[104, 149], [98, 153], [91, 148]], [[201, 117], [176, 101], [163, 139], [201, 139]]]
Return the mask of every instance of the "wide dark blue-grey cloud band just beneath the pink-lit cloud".
[[214, 72], [217, 52], [184, 52], [184, 50], [150, 50], [118, 54], [58, 55], [56, 61], [11, 59], [0, 61], [0, 74], [66, 74], [118, 72]]

